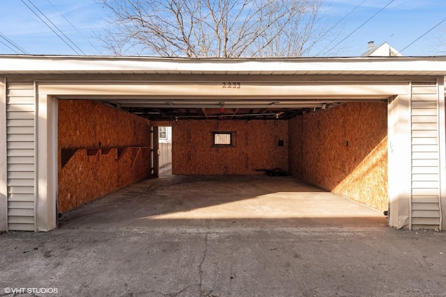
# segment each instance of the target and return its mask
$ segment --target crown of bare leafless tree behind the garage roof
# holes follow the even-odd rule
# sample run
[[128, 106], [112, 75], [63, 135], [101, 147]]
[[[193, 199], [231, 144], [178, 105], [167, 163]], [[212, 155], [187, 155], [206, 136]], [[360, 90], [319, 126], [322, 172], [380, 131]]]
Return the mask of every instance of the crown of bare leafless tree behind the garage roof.
[[116, 55], [302, 56], [330, 36], [323, 0], [96, 0], [109, 10], [100, 36]]

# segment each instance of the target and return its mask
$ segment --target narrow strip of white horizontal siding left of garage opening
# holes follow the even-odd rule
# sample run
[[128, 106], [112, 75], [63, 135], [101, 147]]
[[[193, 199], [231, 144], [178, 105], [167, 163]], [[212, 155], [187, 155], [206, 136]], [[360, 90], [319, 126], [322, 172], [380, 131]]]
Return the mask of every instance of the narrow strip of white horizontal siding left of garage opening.
[[33, 83], [7, 83], [8, 230], [36, 230], [34, 116]]

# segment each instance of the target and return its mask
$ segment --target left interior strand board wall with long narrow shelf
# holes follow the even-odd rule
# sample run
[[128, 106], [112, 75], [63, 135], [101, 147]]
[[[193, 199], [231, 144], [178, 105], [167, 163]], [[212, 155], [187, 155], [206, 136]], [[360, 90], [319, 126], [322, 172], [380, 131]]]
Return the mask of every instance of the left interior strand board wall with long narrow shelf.
[[[58, 211], [81, 204], [148, 177], [149, 149], [128, 148], [118, 159], [117, 147], [150, 147], [150, 122], [130, 113], [85, 100], [59, 101]], [[109, 147], [94, 155], [77, 150], [61, 167], [62, 148]]]

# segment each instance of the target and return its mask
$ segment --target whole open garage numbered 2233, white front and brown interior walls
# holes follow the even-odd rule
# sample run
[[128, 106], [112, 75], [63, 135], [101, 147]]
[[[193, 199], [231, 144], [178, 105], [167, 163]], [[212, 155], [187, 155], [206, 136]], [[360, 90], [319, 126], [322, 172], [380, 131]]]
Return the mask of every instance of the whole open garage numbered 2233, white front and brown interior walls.
[[0, 56], [0, 230], [157, 177], [280, 168], [388, 211], [446, 221], [446, 58], [203, 59]]

